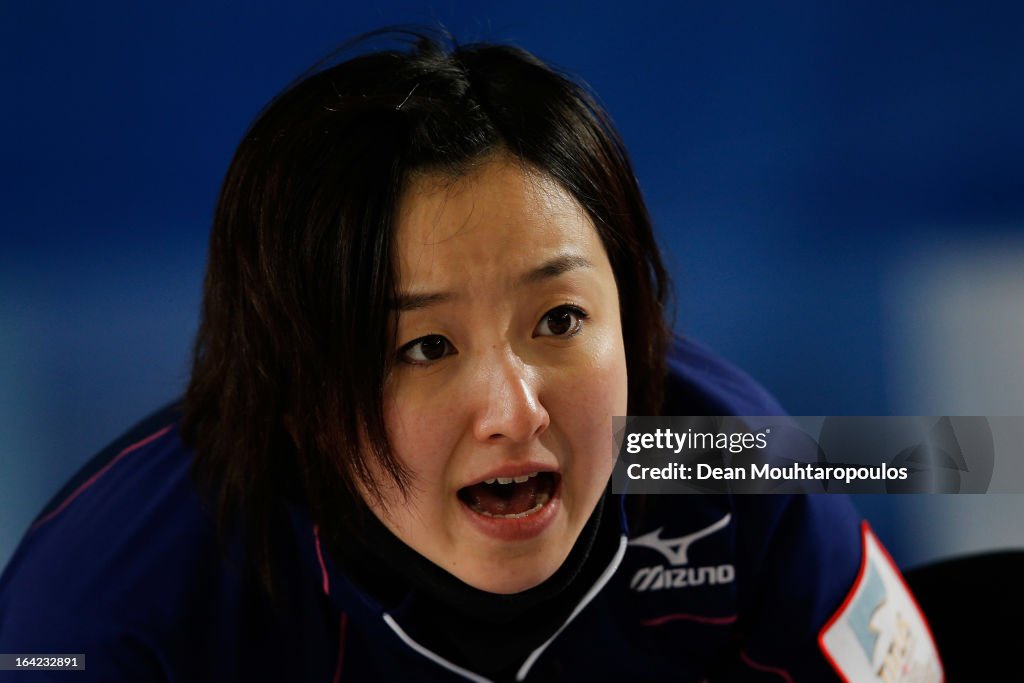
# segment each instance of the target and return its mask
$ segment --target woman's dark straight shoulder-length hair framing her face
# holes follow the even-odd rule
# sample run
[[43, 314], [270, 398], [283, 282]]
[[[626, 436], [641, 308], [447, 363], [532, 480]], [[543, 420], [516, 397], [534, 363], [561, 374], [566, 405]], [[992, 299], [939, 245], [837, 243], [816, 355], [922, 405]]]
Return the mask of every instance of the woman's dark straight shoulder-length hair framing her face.
[[393, 221], [411, 174], [457, 176], [503, 151], [557, 181], [614, 272], [630, 413], [662, 403], [668, 278], [607, 115], [522, 49], [402, 35], [414, 38], [402, 49], [322, 65], [274, 98], [214, 214], [182, 433], [221, 531], [244, 519], [268, 586], [270, 524], [288, 500], [333, 545], [357, 527], [359, 486], [379, 495], [368, 458], [408, 485], [382, 391]]

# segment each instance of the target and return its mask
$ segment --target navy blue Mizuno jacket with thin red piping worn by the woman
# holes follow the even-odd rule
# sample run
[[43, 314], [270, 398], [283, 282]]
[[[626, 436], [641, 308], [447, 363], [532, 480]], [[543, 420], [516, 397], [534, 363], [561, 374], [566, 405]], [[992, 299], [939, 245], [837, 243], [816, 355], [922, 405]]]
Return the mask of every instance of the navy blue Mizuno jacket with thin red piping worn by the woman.
[[[738, 370], [683, 342], [665, 414], [781, 411]], [[218, 544], [177, 420], [168, 409], [132, 429], [39, 515], [0, 579], [0, 652], [85, 653], [84, 674], [50, 674], [83, 683], [484, 680], [419, 644], [430, 624], [386, 613], [357, 590], [301, 511], [279, 529], [288, 590], [271, 604], [242, 569], [241, 546]], [[520, 680], [857, 680], [836, 673], [830, 660], [842, 656], [822, 640], [829, 624], [846, 628], [837, 620], [857, 607], [867, 575], [866, 527], [844, 497], [612, 500], [618, 554]], [[866, 633], [866, 621], [860, 631], [850, 624]], [[902, 642], [882, 640], [849, 642], [870, 644], [870, 664], [885, 661], [873, 650]]]

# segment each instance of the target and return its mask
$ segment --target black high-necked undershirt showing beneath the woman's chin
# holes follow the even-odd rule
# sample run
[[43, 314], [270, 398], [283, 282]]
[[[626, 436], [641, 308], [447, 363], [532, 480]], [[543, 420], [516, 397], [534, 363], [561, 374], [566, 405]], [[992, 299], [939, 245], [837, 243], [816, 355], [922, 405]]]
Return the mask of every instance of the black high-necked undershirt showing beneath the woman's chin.
[[547, 581], [512, 595], [463, 583], [399, 541], [374, 515], [366, 537], [342, 545], [345, 572], [401, 622], [424, 628], [408, 635], [445, 659], [496, 681], [514, 680], [529, 653], [572, 612], [618, 547], [620, 528], [607, 492], [562, 566]]

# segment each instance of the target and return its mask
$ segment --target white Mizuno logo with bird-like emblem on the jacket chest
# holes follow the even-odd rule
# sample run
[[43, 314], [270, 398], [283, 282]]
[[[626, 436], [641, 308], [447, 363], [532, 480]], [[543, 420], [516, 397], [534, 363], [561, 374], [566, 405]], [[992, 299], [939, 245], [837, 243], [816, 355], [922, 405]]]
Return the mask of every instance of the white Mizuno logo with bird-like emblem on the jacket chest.
[[650, 567], [643, 567], [633, 574], [630, 588], [634, 591], [658, 591], [667, 588], [686, 588], [688, 586], [702, 586], [703, 584], [730, 584], [736, 577], [735, 568], [731, 564], [720, 564], [718, 566], [685, 566], [689, 563], [687, 551], [690, 545], [705, 537], [711, 536], [715, 531], [725, 528], [732, 521], [732, 515], [725, 515], [714, 524], [705, 528], [681, 536], [678, 539], [663, 539], [662, 528], [650, 533], [644, 533], [630, 540], [629, 545], [641, 546], [656, 550], [665, 556], [672, 564], [667, 567], [657, 564]]

